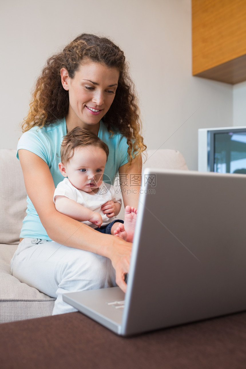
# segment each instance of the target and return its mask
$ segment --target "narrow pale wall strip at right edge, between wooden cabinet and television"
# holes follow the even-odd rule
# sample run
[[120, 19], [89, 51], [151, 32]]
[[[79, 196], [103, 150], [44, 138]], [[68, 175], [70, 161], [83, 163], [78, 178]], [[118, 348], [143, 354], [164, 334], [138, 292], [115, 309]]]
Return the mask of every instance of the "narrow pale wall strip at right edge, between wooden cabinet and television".
[[246, 82], [233, 86], [233, 125], [246, 126]]

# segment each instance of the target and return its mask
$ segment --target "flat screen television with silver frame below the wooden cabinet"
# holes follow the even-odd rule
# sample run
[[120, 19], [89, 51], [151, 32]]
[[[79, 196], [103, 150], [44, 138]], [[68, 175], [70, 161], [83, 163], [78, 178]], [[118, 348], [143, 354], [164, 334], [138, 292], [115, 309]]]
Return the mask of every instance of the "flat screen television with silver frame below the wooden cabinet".
[[198, 171], [246, 174], [246, 127], [199, 129]]

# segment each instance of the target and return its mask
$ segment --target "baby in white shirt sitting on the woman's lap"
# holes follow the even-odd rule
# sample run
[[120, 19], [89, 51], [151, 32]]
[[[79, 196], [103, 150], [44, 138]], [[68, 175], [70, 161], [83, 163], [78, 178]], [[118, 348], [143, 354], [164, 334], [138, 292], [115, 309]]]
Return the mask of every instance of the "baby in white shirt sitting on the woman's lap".
[[108, 146], [86, 128], [70, 131], [60, 149], [59, 170], [65, 179], [58, 183], [53, 200], [60, 213], [132, 242], [137, 209], [126, 206], [124, 221], [115, 217], [121, 199], [111, 184], [103, 182], [108, 153]]

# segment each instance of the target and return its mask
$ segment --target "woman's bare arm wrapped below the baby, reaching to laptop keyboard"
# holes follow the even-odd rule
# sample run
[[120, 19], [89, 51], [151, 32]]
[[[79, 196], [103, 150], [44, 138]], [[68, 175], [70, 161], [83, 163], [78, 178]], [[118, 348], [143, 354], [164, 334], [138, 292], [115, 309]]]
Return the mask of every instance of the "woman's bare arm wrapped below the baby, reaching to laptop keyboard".
[[48, 236], [59, 244], [109, 258], [116, 272], [116, 283], [125, 292], [124, 277], [129, 270], [132, 244], [59, 213], [53, 202], [55, 184], [48, 165], [25, 149], [20, 149], [18, 154], [27, 194]]

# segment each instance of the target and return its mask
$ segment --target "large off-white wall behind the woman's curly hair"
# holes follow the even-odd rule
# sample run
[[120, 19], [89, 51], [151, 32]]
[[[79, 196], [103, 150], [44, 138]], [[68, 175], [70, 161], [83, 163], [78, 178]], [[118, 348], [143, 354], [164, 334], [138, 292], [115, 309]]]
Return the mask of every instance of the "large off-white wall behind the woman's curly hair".
[[148, 148], [178, 149], [197, 169], [197, 130], [232, 125], [233, 87], [192, 76], [191, 0], [4, 1], [0, 148], [16, 147], [48, 56], [82, 32], [101, 32], [125, 51]]

